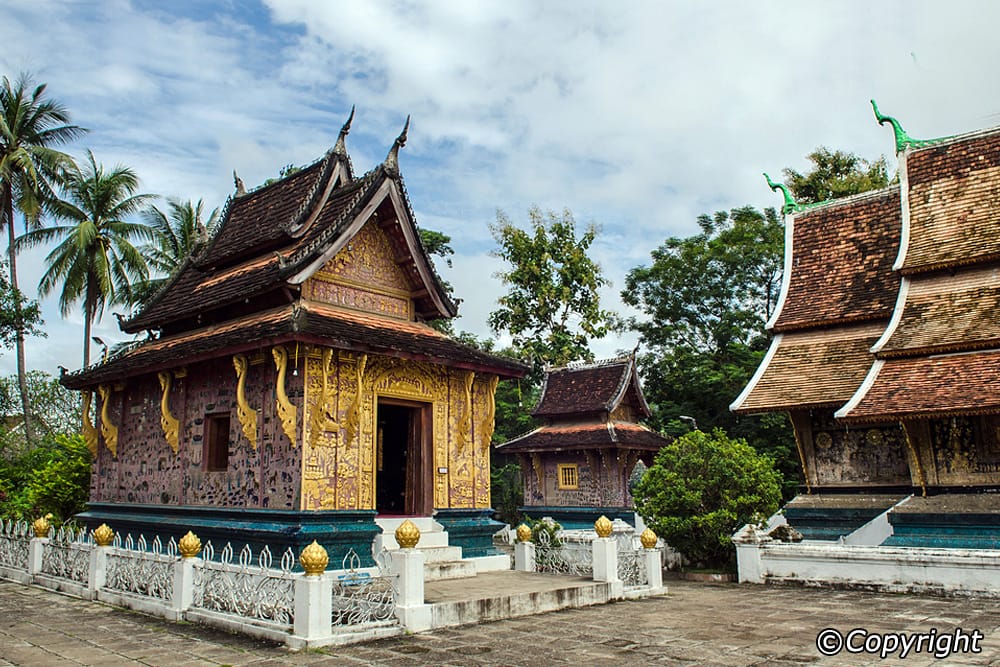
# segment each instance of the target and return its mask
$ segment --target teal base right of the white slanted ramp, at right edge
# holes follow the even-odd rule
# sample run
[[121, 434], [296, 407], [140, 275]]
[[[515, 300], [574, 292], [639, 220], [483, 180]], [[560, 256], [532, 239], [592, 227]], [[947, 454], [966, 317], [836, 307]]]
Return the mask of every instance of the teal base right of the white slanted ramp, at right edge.
[[888, 547], [1000, 549], [998, 514], [929, 514], [890, 512], [893, 534]]

